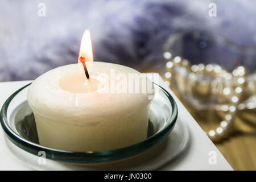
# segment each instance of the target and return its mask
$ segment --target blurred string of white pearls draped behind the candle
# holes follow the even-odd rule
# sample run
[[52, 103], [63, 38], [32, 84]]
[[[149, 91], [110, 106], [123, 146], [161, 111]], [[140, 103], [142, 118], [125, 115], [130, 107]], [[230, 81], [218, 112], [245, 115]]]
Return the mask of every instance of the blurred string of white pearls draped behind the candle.
[[[163, 57], [167, 60], [166, 72], [164, 73], [164, 80], [168, 86], [172, 86], [172, 82], [175, 80], [174, 70], [176, 67], [183, 68], [184, 72], [189, 73], [189, 76], [196, 76], [196, 74], [204, 75], [205, 73], [211, 74], [212, 76], [220, 76], [228, 83], [233, 82], [233, 87], [231, 90], [228, 86], [222, 85], [222, 94], [229, 99], [228, 105], [216, 105], [214, 109], [217, 111], [225, 111], [224, 120], [220, 122], [220, 125], [207, 133], [208, 137], [213, 141], [219, 140], [228, 134], [230, 126], [234, 121], [234, 115], [238, 109], [245, 109], [245, 104], [239, 104], [240, 98], [244, 92], [243, 88], [246, 84], [245, 76], [247, 74], [246, 69], [242, 66], [234, 69], [232, 73], [222, 69], [220, 65], [216, 64], [198, 64], [191, 65], [191, 63], [182, 59], [180, 56], [176, 56], [172, 59], [172, 54], [170, 52], [164, 52]], [[235, 82], [234, 82], [235, 81]], [[229, 85], [229, 84], [228, 84]], [[232, 92], [234, 91], [234, 92]], [[212, 90], [214, 92], [214, 90]], [[251, 107], [251, 106], [249, 106]]]

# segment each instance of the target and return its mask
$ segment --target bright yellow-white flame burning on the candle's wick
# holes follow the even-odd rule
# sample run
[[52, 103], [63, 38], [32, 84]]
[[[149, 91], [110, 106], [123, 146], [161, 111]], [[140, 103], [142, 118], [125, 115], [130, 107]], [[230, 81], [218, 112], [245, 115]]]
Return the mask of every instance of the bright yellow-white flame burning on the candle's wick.
[[79, 59], [78, 62], [86, 61], [93, 61], [93, 52], [92, 52], [92, 40], [90, 39], [90, 31], [85, 30], [84, 34], [82, 35], [81, 45], [80, 45], [80, 52], [79, 52]]

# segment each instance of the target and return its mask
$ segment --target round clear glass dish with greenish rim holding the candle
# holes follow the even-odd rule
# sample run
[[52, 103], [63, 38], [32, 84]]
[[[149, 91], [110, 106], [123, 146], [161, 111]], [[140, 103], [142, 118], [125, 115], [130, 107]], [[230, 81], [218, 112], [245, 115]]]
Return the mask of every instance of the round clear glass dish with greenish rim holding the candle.
[[7, 138], [16, 146], [34, 155], [46, 153], [47, 159], [68, 163], [106, 163], [129, 158], [155, 146], [170, 134], [177, 119], [174, 98], [161, 86], [154, 83], [155, 98], [150, 105], [147, 139], [131, 146], [108, 151], [64, 151], [39, 144], [35, 119], [27, 104], [27, 90], [30, 84], [13, 93], [3, 104], [0, 122]]

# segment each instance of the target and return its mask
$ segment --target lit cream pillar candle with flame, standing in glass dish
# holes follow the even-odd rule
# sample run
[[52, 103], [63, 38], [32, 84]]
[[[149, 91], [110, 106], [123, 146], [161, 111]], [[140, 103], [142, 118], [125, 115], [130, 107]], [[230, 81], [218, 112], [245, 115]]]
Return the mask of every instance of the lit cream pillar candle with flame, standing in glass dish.
[[85, 66], [52, 69], [30, 85], [27, 100], [39, 143], [61, 150], [102, 151], [146, 139], [152, 82], [135, 69], [93, 62], [89, 31], [81, 41], [83, 60]]

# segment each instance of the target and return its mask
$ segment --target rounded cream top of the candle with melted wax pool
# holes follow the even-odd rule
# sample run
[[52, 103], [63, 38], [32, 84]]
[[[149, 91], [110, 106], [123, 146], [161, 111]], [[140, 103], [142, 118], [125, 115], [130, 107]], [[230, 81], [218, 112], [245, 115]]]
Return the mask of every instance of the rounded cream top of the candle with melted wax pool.
[[[154, 86], [146, 76], [123, 65], [94, 62], [87, 80], [81, 64], [44, 73], [30, 85], [28, 104], [40, 115], [75, 122], [76, 117], [132, 115], [146, 107]], [[74, 118], [74, 115], [76, 116]]]

